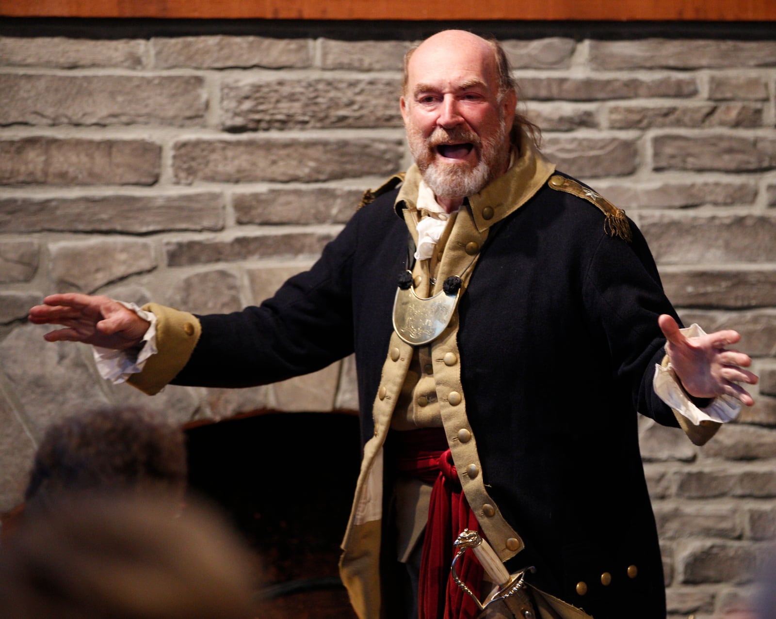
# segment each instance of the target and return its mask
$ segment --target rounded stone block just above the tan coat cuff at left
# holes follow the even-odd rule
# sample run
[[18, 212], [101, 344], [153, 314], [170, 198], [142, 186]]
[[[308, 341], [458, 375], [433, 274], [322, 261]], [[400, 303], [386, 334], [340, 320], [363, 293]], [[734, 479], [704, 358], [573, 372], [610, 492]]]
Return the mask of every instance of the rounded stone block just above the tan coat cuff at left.
[[223, 268], [194, 273], [175, 282], [167, 303], [196, 314], [237, 312], [243, 306], [240, 281]]

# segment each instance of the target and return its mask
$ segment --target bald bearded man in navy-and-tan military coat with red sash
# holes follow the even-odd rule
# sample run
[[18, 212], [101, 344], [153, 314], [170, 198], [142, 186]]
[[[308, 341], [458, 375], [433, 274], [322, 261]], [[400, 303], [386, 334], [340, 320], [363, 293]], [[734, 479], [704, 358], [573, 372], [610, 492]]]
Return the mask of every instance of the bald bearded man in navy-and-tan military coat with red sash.
[[[636, 411], [707, 440], [752, 403], [750, 359], [725, 350], [739, 336], [679, 330], [639, 230], [536, 150], [497, 43], [438, 33], [404, 78], [415, 165], [262, 306], [192, 316], [54, 295], [30, 320], [64, 325], [50, 341], [137, 354], [141, 372], [106, 373], [149, 393], [272, 382], [355, 351], [363, 460], [341, 574], [359, 617], [412, 616], [405, 590], [425, 619], [476, 616], [449, 579], [466, 527], [509, 572], [535, 568], [525, 617], [663, 617]], [[491, 572], [468, 552], [459, 564], [474, 593]]]

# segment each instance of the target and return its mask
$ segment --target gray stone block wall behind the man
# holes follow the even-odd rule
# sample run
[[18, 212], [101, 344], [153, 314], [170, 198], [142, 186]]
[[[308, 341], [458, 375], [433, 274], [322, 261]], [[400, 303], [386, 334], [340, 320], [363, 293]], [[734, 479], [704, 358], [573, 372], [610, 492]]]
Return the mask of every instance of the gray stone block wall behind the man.
[[[102, 382], [87, 348], [44, 343], [26, 310], [62, 291], [199, 313], [271, 295], [407, 165], [401, 58], [435, 29], [103, 26], [0, 29], [0, 510], [74, 410], [355, 410], [349, 359], [147, 399]], [[776, 534], [776, 36], [727, 32], [497, 28], [545, 153], [628, 211], [684, 319], [739, 329], [762, 377], [757, 404], [704, 448], [643, 420], [677, 617], [747, 599]]]

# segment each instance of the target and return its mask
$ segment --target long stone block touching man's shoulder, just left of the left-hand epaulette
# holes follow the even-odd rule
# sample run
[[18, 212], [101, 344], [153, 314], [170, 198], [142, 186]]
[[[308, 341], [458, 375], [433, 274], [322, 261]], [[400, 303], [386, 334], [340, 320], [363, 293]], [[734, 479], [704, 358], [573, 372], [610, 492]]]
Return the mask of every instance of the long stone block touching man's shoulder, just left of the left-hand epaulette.
[[270, 189], [232, 196], [237, 223], [345, 223], [363, 195], [361, 189], [314, 187]]

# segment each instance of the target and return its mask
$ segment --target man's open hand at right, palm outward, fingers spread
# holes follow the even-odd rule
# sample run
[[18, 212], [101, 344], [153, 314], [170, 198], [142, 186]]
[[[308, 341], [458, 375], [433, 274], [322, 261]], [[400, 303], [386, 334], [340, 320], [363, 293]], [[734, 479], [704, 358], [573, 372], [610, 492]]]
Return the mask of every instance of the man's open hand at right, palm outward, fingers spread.
[[682, 387], [696, 398], [733, 396], [747, 406], [754, 403], [752, 396], [738, 383], [754, 385], [757, 376], [748, 368], [752, 364], [748, 354], [729, 351], [725, 347], [741, 339], [733, 330], [716, 331], [702, 337], [684, 337], [676, 320], [667, 314], [657, 319], [667, 339], [666, 351]]

